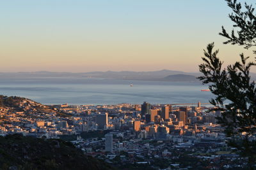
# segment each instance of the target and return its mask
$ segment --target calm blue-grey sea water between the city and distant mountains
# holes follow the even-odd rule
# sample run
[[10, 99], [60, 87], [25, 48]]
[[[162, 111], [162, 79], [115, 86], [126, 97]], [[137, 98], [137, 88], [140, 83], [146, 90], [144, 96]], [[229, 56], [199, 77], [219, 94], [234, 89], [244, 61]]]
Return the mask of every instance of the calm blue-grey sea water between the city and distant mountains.
[[[133, 87], [130, 87], [130, 84]], [[208, 103], [199, 82], [127, 81], [95, 78], [0, 78], [0, 94], [42, 104]]]

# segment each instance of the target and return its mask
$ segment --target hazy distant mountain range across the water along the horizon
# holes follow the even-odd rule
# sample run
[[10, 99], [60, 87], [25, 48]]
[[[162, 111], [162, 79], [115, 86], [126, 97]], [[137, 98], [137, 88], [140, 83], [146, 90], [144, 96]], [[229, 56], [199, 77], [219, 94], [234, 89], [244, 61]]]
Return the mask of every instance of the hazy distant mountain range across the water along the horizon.
[[[0, 73], [1, 78], [110, 78], [120, 80], [142, 81], [198, 81], [200, 73], [188, 73], [163, 69], [160, 71], [93, 71], [86, 73], [69, 72], [18, 72]], [[256, 73], [251, 73], [252, 80], [256, 80]]]

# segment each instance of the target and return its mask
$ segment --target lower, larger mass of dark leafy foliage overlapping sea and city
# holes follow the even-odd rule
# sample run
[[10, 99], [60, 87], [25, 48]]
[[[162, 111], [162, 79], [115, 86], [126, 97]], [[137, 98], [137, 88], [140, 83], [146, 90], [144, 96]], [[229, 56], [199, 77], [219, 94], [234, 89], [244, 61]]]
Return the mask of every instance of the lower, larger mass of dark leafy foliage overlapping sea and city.
[[[217, 57], [218, 50], [213, 52], [214, 43], [204, 50], [205, 57], [199, 69], [204, 75], [199, 79], [210, 84], [209, 89], [216, 97], [211, 104], [216, 110], [224, 111], [218, 117], [218, 123], [225, 127], [230, 139], [230, 146], [249, 161], [256, 161], [256, 86], [250, 81], [250, 68], [254, 62], [246, 62], [249, 57], [240, 55], [241, 62], [222, 68], [223, 62]], [[225, 104], [228, 103], [228, 104]]]

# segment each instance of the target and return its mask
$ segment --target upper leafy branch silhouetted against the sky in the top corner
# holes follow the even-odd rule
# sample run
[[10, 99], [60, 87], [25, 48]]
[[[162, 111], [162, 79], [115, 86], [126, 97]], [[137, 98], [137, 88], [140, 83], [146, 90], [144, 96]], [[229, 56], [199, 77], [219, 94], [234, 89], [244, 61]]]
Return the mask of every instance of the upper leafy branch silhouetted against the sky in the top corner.
[[[234, 13], [229, 15], [229, 18], [234, 22], [234, 27], [238, 28], [237, 34], [233, 31], [228, 34], [224, 27], [222, 27], [221, 36], [228, 38], [224, 44], [231, 43], [232, 45], [243, 45], [248, 49], [252, 46], [256, 46], [256, 15], [254, 13], [255, 8], [252, 4], [244, 3], [244, 8], [241, 3], [237, 3], [237, 0], [225, 0]], [[256, 53], [256, 51], [253, 51]]]

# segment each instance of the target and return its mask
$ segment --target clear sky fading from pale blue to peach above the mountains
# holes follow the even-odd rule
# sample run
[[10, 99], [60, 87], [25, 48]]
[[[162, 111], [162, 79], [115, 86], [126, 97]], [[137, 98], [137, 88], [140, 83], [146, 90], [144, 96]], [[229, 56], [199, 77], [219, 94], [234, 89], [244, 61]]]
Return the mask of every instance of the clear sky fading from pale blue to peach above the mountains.
[[198, 72], [211, 42], [232, 64], [252, 50], [222, 44], [231, 12], [224, 0], [0, 1], [0, 72]]

